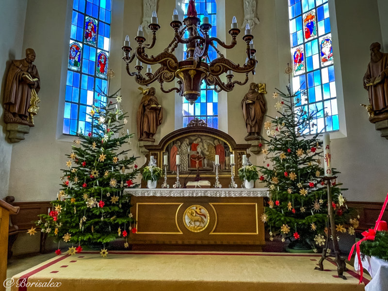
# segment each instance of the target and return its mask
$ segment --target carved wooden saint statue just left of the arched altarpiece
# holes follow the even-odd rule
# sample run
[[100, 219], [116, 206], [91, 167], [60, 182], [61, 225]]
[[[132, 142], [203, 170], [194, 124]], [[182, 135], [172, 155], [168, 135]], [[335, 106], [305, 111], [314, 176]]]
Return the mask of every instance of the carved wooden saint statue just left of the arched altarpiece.
[[155, 96], [155, 88], [143, 90], [142, 100], [140, 101], [139, 110], [137, 111], [137, 136], [139, 141], [155, 142], [153, 136], [162, 124], [162, 106], [159, 105]]

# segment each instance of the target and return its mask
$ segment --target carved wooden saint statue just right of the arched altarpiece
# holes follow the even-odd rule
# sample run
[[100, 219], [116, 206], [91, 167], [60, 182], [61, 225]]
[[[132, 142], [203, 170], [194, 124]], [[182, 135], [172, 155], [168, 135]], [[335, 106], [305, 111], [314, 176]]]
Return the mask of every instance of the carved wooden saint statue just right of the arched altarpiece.
[[248, 132], [245, 136], [246, 141], [259, 140], [260, 138], [261, 125], [267, 112], [265, 93], [267, 92], [265, 92], [264, 84], [250, 83], [249, 91], [241, 101], [242, 115]]

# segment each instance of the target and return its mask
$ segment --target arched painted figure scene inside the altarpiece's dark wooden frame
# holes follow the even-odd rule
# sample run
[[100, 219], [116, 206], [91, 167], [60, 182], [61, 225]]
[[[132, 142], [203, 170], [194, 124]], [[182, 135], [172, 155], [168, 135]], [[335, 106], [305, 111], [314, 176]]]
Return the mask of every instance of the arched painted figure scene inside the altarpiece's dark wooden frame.
[[230, 171], [230, 147], [221, 139], [209, 135], [191, 135], [176, 139], [167, 145], [163, 155], [168, 156], [169, 170], [177, 171], [179, 155], [179, 173], [215, 173], [215, 156], [218, 155], [219, 171]]

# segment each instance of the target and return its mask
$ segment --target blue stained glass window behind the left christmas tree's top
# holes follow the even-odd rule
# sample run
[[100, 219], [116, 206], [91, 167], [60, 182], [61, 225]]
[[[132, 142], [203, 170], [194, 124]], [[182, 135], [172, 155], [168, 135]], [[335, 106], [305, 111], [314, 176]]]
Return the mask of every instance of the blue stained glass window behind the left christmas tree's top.
[[93, 130], [87, 113], [92, 105], [104, 107], [101, 93], [108, 90], [107, 72], [112, 0], [74, 0], [65, 91], [63, 133]]

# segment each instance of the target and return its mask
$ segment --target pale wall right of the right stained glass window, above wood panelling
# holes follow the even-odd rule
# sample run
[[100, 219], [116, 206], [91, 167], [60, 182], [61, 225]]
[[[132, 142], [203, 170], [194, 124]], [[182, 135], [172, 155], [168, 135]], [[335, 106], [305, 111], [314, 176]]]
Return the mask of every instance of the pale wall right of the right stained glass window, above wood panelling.
[[[336, 0], [340, 65], [346, 114], [347, 137], [333, 139], [333, 166], [341, 172], [346, 197], [353, 201], [382, 202], [388, 191], [387, 140], [368, 121], [360, 103], [368, 104], [362, 78], [370, 62], [369, 46], [380, 42], [380, 22], [376, 0]], [[334, 56], [336, 58], [336, 56]], [[335, 59], [336, 60], [336, 59]], [[338, 79], [339, 76], [337, 75]], [[338, 91], [338, 89], [337, 89]]]

